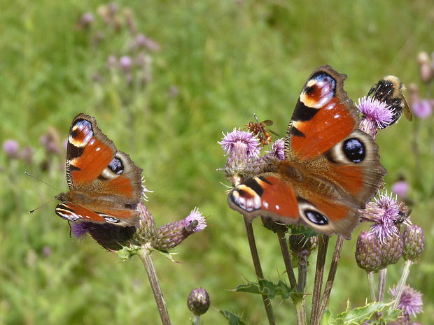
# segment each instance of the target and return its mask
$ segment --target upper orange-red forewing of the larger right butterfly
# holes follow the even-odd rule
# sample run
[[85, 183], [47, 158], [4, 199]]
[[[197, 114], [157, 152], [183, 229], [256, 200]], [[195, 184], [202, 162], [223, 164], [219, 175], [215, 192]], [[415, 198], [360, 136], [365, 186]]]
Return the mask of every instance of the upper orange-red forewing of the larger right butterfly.
[[317, 157], [358, 127], [359, 113], [344, 91], [345, 78], [321, 66], [307, 80], [286, 135], [293, 157]]

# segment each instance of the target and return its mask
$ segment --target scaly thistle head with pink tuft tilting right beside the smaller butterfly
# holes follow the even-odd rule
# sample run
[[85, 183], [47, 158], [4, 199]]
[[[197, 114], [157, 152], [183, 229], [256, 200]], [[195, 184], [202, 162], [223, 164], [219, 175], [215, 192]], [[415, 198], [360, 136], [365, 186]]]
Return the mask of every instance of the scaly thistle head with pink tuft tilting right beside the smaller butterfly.
[[160, 226], [152, 238], [151, 245], [156, 250], [170, 250], [183, 242], [188, 236], [207, 227], [207, 221], [202, 213], [194, 208], [188, 217], [176, 222]]

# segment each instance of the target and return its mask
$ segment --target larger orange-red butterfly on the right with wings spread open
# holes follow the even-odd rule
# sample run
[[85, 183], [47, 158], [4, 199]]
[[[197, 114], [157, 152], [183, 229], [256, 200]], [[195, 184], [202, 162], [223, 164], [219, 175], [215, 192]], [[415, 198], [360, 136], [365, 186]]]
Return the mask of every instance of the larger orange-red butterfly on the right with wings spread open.
[[344, 91], [345, 79], [330, 66], [310, 75], [288, 125], [285, 159], [232, 189], [230, 208], [250, 220], [271, 217], [351, 238], [359, 209], [386, 170], [377, 144], [358, 129], [360, 112]]

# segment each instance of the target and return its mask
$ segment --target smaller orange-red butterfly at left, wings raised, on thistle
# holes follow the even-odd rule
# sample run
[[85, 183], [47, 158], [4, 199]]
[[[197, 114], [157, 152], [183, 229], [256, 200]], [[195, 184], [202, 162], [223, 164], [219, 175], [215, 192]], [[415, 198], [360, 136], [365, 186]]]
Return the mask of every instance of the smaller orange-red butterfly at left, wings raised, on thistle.
[[72, 222], [134, 226], [144, 190], [141, 171], [102, 133], [94, 117], [79, 114], [66, 150], [70, 191], [56, 196], [61, 203], [55, 212]]

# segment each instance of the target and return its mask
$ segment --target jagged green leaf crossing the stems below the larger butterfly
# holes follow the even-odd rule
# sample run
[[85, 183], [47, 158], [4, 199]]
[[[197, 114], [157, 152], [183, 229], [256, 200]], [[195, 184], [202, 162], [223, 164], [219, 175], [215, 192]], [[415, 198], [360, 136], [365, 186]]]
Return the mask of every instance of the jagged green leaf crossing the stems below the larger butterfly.
[[268, 296], [273, 299], [276, 296], [281, 296], [283, 299], [293, 298], [300, 295], [295, 290], [290, 289], [284, 282], [279, 281], [274, 284], [271, 281], [261, 279], [256, 282], [248, 282], [247, 284], [241, 284], [235, 288], [237, 292], [247, 292], [248, 294], [260, 294]]

